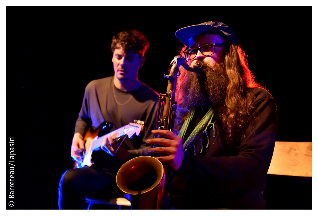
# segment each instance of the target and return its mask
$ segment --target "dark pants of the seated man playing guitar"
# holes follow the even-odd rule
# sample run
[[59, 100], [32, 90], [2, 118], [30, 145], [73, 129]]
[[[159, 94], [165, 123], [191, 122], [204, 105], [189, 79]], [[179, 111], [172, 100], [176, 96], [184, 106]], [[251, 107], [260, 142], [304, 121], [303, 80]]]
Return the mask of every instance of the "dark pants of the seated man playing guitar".
[[116, 176], [102, 168], [82, 167], [64, 172], [59, 182], [59, 209], [86, 209], [86, 199], [122, 196]]

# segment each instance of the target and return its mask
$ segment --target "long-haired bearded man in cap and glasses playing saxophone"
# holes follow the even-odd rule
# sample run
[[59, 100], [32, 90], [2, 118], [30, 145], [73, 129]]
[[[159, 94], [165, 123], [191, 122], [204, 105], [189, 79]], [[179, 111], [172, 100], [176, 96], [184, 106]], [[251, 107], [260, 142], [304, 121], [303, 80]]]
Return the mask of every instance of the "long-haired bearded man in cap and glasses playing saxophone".
[[147, 140], [163, 145], [148, 151], [167, 154], [157, 159], [175, 171], [172, 209], [264, 209], [277, 133], [271, 94], [255, 82], [227, 25], [205, 22], [177, 30], [176, 37], [188, 64], [203, 71], [180, 68], [175, 133], [154, 130], [168, 139]]

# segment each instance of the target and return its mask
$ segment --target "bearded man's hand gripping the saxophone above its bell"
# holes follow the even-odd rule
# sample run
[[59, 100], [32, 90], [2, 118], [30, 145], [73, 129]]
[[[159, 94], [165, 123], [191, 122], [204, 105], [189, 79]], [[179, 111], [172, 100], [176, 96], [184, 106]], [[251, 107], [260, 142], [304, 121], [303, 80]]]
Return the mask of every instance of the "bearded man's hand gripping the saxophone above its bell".
[[177, 171], [181, 166], [183, 155], [184, 155], [182, 139], [178, 137], [174, 132], [171, 132], [171, 131], [153, 130], [152, 133], [155, 135], [165, 136], [168, 139], [166, 138], [148, 139], [147, 143], [149, 144], [160, 144], [165, 146], [165, 147], [149, 148], [148, 152], [167, 154], [167, 156], [158, 157], [157, 159], [161, 162], [169, 163], [171, 169], [174, 171]]

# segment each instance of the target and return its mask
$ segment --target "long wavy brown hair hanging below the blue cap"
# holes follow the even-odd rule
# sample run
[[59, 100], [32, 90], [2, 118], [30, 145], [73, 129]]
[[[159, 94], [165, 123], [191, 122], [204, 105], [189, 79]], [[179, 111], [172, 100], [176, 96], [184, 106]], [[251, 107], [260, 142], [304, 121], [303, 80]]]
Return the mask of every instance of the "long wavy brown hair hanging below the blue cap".
[[[186, 46], [181, 49], [180, 55], [183, 55], [185, 49]], [[218, 120], [222, 122], [225, 142], [230, 144], [233, 141], [238, 141], [237, 139], [244, 126], [255, 120], [249, 118], [254, 109], [252, 104], [254, 96], [251, 94], [251, 90], [255, 87], [262, 88], [262, 86], [255, 82], [255, 77], [247, 66], [245, 53], [240, 46], [229, 42], [223, 63], [225, 73], [229, 78], [229, 84], [226, 89], [225, 100], [222, 105], [216, 107], [215, 112], [218, 114]], [[184, 69], [180, 68], [180, 71], [181, 76], [186, 74]], [[182, 107], [182, 96], [178, 94], [179, 89], [182, 88], [181, 86], [182, 83], [177, 82], [176, 101], [180, 106], [175, 119], [175, 132], [177, 133], [190, 111]]]

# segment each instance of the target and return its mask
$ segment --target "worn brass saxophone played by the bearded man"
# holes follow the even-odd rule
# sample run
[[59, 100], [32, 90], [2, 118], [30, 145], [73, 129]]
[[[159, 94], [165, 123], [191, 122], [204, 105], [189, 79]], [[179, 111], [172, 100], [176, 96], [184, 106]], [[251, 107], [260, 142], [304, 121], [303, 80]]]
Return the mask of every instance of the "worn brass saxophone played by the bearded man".
[[[175, 92], [176, 81], [180, 75], [179, 67], [187, 71], [196, 72], [200, 75], [201, 66], [195, 64], [190, 67], [185, 58], [175, 56], [171, 61], [168, 71], [168, 87], [166, 94], [159, 94], [159, 105], [155, 129], [173, 131], [176, 110]], [[165, 102], [163, 104], [163, 102]], [[162, 138], [155, 136], [155, 138]], [[163, 137], [165, 138], [165, 137]], [[152, 145], [158, 147], [160, 145]], [[164, 154], [151, 154], [129, 160], [121, 166], [117, 175], [116, 183], [121, 191], [130, 194], [131, 209], [162, 209], [163, 198], [167, 188], [167, 179], [171, 179], [171, 170], [167, 163], [161, 163], [156, 157]]]

